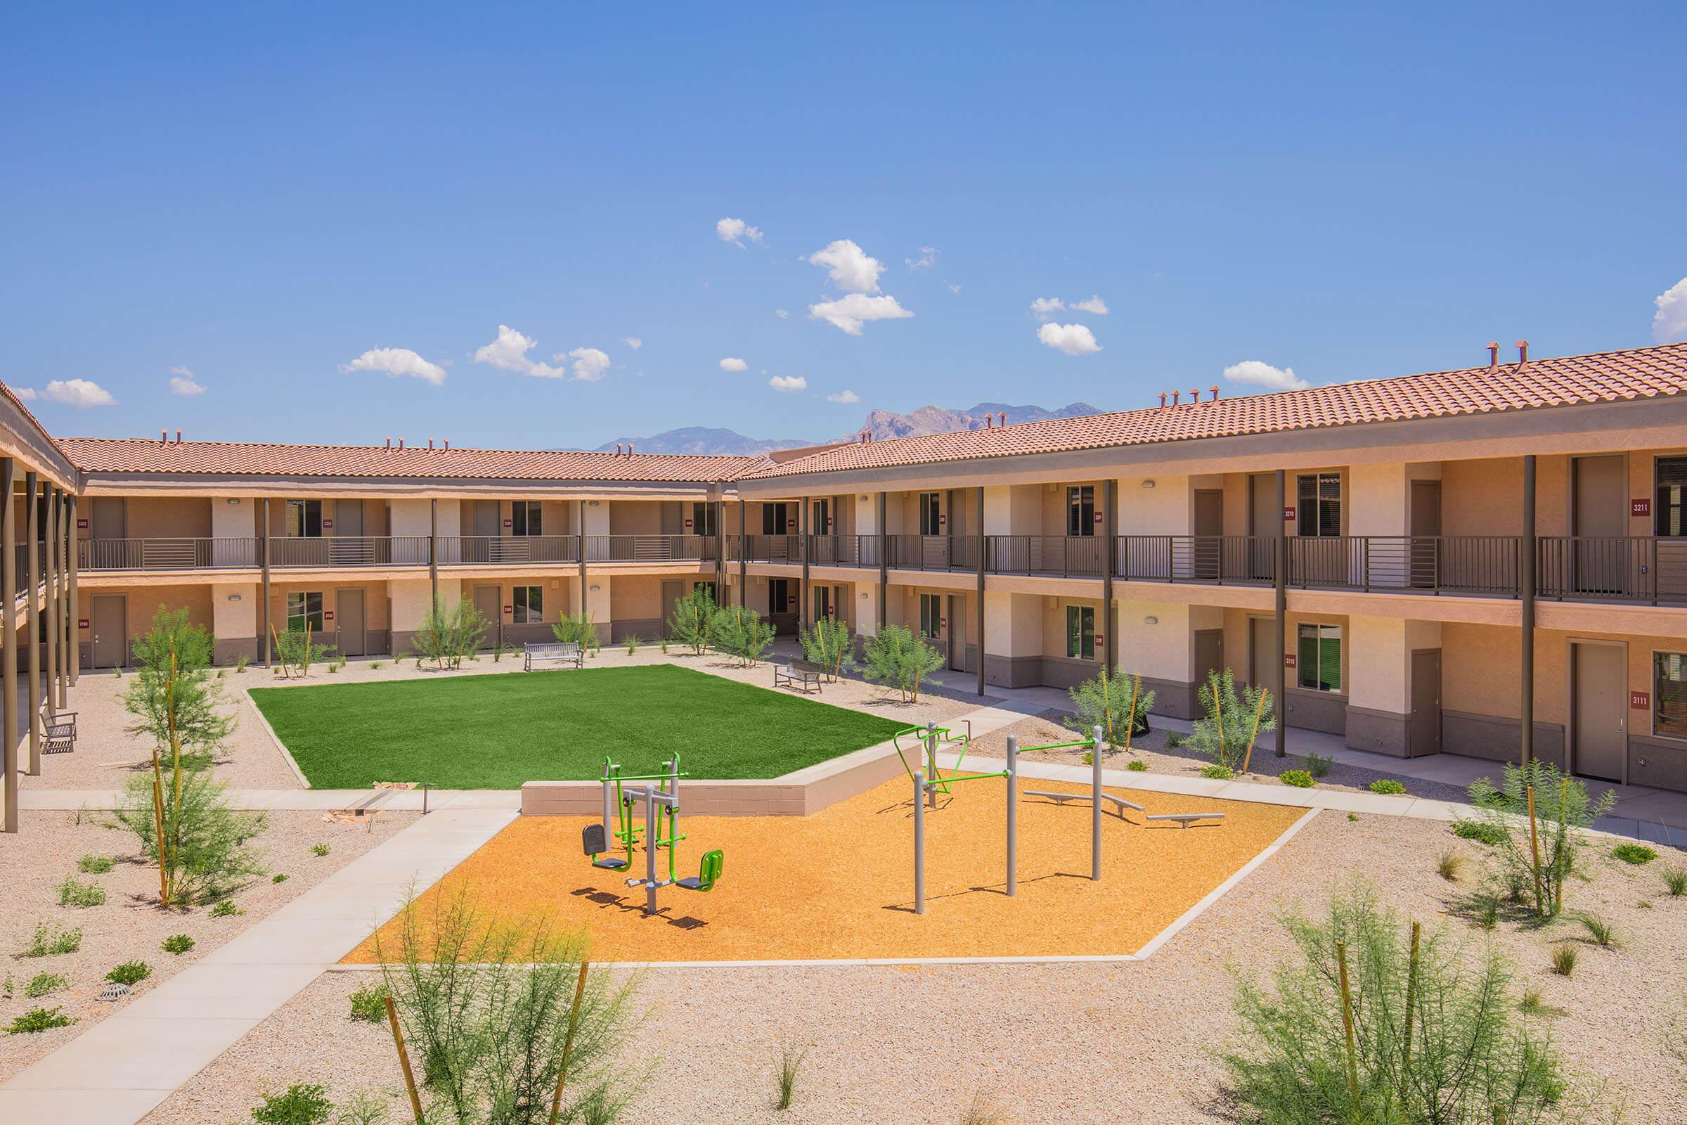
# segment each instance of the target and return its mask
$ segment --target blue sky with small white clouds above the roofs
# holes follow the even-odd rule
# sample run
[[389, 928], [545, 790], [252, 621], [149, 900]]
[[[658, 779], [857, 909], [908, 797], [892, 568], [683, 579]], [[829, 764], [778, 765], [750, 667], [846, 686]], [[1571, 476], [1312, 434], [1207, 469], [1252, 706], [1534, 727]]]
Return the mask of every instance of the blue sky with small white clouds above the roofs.
[[13, 5], [0, 378], [579, 447], [1687, 337], [1687, 8], [1360, 7]]

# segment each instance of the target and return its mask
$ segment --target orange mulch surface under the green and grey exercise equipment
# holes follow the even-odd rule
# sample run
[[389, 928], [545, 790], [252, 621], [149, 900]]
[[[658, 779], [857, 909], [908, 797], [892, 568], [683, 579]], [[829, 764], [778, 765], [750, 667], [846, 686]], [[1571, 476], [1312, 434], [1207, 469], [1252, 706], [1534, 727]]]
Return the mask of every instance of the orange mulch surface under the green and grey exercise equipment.
[[[1086, 793], [1021, 779], [1022, 788]], [[1129, 811], [1102, 818], [1090, 879], [1090, 808], [1021, 794], [1019, 894], [1004, 894], [1005, 784], [968, 781], [926, 815], [926, 914], [913, 911], [911, 786], [887, 783], [813, 816], [683, 816], [678, 874], [725, 852], [709, 892], [660, 891], [660, 914], [621, 872], [580, 852], [584, 818], [511, 823], [428, 896], [467, 885], [489, 918], [545, 912], [589, 933], [597, 960], [763, 961], [1129, 955], [1275, 842], [1304, 810], [1118, 791], [1147, 813], [1221, 811], [1189, 828]], [[1108, 805], [1108, 810], [1112, 806]], [[666, 862], [666, 857], [660, 857]], [[643, 850], [634, 870], [643, 872]], [[665, 867], [663, 867], [665, 870]], [[425, 904], [423, 904], [425, 907]], [[423, 909], [423, 914], [427, 911]], [[381, 933], [393, 950], [398, 923]], [[375, 960], [375, 938], [346, 958]]]

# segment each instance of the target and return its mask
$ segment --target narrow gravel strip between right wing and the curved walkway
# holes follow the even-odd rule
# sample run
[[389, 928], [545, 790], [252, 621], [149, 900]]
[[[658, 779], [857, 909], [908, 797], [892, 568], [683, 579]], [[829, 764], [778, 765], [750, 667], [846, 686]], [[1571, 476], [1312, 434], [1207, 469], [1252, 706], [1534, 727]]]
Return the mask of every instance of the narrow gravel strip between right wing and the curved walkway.
[[[1070, 742], [1078, 737], [1075, 730], [1061, 725], [1063, 719], [1070, 719], [1066, 712], [1048, 710], [1034, 719], [1026, 719], [1016, 722], [1011, 727], [1002, 727], [987, 735], [980, 735], [977, 742], [972, 744], [973, 754], [982, 757], [1005, 757], [1007, 756], [1007, 735], [1016, 735], [1019, 746], [1048, 746], [1051, 742]], [[1147, 764], [1149, 772], [1154, 774], [1181, 774], [1186, 778], [1199, 778], [1201, 767], [1210, 764], [1211, 759], [1205, 754], [1196, 754], [1191, 746], [1166, 746], [1166, 729], [1154, 725], [1154, 717], [1149, 717], [1149, 725], [1154, 729], [1140, 737], [1130, 740], [1130, 759], [1137, 759]], [[1034, 751], [1029, 754], [1021, 754], [1019, 761], [1034, 762], [1059, 762], [1063, 766], [1076, 766], [1083, 762], [1085, 751]], [[1112, 754], [1107, 759], [1108, 769], [1124, 769], [1125, 754]], [[1253, 761], [1248, 762], [1248, 772], [1237, 774], [1238, 781], [1277, 781], [1277, 774], [1285, 769], [1306, 769], [1306, 759], [1291, 754], [1289, 757], [1274, 757], [1269, 746], [1253, 749]], [[1343, 791], [1361, 791], [1370, 786], [1372, 781], [1378, 778], [1393, 778], [1405, 784], [1405, 791], [1412, 796], [1429, 798], [1432, 801], [1468, 801], [1469, 794], [1459, 786], [1441, 784], [1437, 781], [1422, 781], [1419, 778], [1405, 778], [1400, 774], [1382, 772], [1375, 769], [1360, 769], [1358, 766], [1345, 766], [1334, 762], [1328, 774], [1318, 779], [1318, 788], [1321, 789], [1343, 789]]]

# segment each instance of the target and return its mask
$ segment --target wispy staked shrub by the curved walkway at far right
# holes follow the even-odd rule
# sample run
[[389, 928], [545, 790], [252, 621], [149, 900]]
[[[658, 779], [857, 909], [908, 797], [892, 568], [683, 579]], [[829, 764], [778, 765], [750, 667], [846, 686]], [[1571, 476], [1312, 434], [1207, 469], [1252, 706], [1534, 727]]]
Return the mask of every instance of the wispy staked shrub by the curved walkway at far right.
[[1616, 794], [1608, 789], [1594, 801], [1586, 784], [1539, 759], [1503, 767], [1498, 788], [1486, 778], [1469, 788], [1471, 805], [1483, 810], [1486, 832], [1495, 838], [1490, 877], [1527, 874], [1535, 912], [1555, 918], [1564, 909], [1564, 884], [1576, 869], [1581, 833], [1611, 811]]

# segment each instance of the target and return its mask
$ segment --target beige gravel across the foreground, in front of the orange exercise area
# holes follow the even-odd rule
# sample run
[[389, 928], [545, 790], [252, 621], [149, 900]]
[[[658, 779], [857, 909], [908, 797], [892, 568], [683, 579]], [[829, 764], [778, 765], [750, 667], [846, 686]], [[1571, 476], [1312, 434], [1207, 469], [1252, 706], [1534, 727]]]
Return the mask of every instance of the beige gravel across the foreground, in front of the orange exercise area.
[[[1226, 968], [1264, 972], [1287, 945], [1277, 914], [1321, 911], [1353, 870], [1387, 889], [1402, 923], [1449, 926], [1474, 953], [1488, 936], [1447, 914], [1464, 887], [1436, 874], [1447, 848], [1474, 860], [1479, 845], [1441, 823], [1321, 813], [1145, 963], [651, 970], [641, 982], [649, 1019], [619, 1063], [655, 1073], [623, 1120], [957, 1123], [980, 1095], [1017, 1122], [1232, 1120], [1206, 1054], [1233, 1031]], [[1549, 970], [1549, 948], [1577, 926], [1501, 923], [1491, 939], [1517, 965], [1518, 995], [1539, 990], [1562, 1009], [1549, 1019], [1567, 1064], [1606, 1083], [1603, 1100], [1620, 1103], [1628, 1125], [1687, 1120], [1687, 1073], [1663, 1049], [1682, 1010], [1687, 899], [1667, 897], [1658, 872], [1680, 857], [1630, 869], [1606, 848], [1589, 850], [1589, 880], [1572, 887], [1571, 906], [1611, 921], [1620, 950], [1584, 943], [1564, 978]], [[348, 1017], [346, 997], [369, 980], [324, 975], [145, 1120], [245, 1120], [260, 1090], [294, 1081], [324, 1083], [341, 1100], [386, 1091], [402, 1120], [391, 1041]], [[795, 1106], [774, 1113], [786, 1044], [808, 1059]]]

